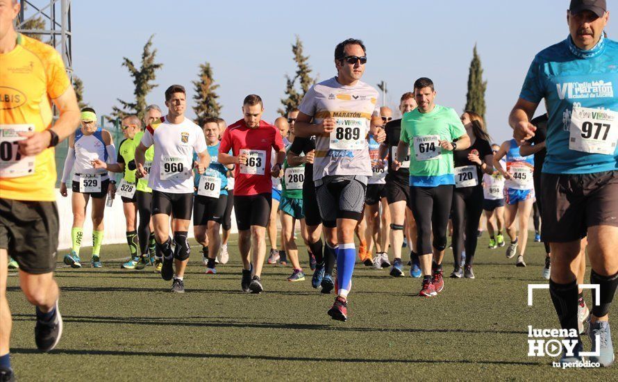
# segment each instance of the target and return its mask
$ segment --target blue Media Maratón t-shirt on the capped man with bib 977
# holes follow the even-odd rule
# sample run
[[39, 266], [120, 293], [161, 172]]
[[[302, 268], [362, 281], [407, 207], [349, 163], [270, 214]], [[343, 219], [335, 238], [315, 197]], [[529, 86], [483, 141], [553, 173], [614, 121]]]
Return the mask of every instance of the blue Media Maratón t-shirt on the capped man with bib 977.
[[618, 86], [618, 42], [608, 38], [601, 37], [593, 49], [582, 51], [569, 36], [535, 56], [519, 97], [533, 103], [547, 101], [543, 172], [592, 174], [618, 169], [618, 147], [613, 155], [569, 149], [573, 107], [618, 111], [614, 84]]

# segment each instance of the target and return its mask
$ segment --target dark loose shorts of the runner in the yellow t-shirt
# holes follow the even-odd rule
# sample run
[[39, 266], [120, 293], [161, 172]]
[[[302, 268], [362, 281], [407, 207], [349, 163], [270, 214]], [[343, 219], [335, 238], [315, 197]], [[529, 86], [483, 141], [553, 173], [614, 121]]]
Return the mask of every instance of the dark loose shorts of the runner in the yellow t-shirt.
[[56, 202], [0, 199], [0, 249], [26, 273], [53, 272], [58, 251]]

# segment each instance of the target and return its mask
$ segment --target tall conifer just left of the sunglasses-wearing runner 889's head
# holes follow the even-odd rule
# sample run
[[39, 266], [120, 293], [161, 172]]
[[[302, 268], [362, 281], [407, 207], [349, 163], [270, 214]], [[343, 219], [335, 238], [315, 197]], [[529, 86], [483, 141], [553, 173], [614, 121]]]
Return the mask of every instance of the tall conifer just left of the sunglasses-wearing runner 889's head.
[[[296, 43], [292, 44], [292, 53], [294, 54], [294, 62], [297, 64], [297, 71], [294, 77], [285, 75], [285, 95], [287, 97], [281, 99], [283, 108], [277, 110], [281, 115], [287, 115], [290, 110], [298, 108], [303, 97], [305, 97], [305, 93], [315, 83], [315, 80], [310, 76], [309, 56], [303, 56], [303, 42], [298, 35], [296, 36]], [[297, 81], [299, 90], [297, 90]]]

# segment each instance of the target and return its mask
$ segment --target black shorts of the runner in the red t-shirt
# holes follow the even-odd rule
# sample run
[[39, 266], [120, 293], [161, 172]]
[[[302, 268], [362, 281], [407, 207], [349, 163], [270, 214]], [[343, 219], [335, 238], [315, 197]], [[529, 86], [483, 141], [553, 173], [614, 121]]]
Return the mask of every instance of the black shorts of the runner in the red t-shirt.
[[251, 226], [266, 227], [272, 208], [272, 193], [235, 195], [234, 213], [238, 231], [247, 231]]

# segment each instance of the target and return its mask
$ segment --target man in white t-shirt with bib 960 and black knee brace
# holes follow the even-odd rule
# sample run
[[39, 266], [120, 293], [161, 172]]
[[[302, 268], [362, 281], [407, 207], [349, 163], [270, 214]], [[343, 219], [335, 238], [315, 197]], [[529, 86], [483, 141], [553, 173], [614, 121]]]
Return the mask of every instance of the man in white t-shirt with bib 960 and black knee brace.
[[[152, 221], [157, 246], [163, 255], [161, 278], [172, 280], [172, 292], [184, 293], [184, 275], [189, 263], [190, 247], [187, 231], [193, 209], [193, 172], [203, 174], [210, 163], [204, 133], [185, 118], [186, 93], [181, 85], [172, 85], [165, 90], [167, 115], [146, 127], [142, 141], [135, 150], [137, 178], [148, 176], [152, 189]], [[151, 171], [144, 168], [145, 153], [153, 146], [157, 153], [153, 158]], [[198, 161], [193, 160], [196, 152]], [[169, 237], [169, 217], [172, 222], [174, 242]], [[174, 263], [176, 274], [174, 275]]]

